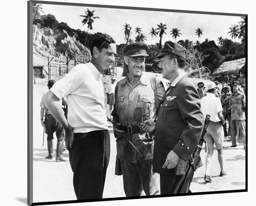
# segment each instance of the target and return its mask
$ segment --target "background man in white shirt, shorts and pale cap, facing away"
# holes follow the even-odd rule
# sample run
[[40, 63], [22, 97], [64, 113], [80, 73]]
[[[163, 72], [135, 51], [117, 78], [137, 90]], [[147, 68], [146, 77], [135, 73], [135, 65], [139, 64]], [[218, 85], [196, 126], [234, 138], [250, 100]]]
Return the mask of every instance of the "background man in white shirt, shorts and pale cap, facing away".
[[214, 82], [207, 85], [208, 93], [207, 96], [201, 99], [201, 109], [204, 117], [209, 114], [210, 117], [210, 124], [205, 135], [206, 144], [208, 147], [208, 153], [206, 155], [206, 163], [205, 163], [205, 176], [204, 180], [206, 182], [212, 182], [210, 177], [210, 165], [211, 159], [213, 155], [213, 146], [215, 144], [216, 149], [218, 151], [218, 161], [221, 167], [220, 176], [224, 176], [227, 173], [224, 172], [223, 169], [223, 138], [224, 132], [222, 125], [225, 124], [224, 117], [222, 115], [222, 104], [221, 100], [215, 96], [216, 92], [216, 84]]

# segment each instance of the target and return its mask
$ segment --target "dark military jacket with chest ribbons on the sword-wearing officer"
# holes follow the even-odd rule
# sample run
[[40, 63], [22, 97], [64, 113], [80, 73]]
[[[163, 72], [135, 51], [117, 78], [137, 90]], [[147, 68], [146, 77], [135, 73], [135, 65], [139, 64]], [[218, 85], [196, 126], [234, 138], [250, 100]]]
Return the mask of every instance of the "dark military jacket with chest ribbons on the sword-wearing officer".
[[[193, 81], [186, 75], [175, 81], [160, 105], [156, 120], [153, 171], [160, 174], [184, 174], [203, 129], [200, 97]], [[180, 157], [178, 164], [174, 169], [163, 169], [171, 150]]]

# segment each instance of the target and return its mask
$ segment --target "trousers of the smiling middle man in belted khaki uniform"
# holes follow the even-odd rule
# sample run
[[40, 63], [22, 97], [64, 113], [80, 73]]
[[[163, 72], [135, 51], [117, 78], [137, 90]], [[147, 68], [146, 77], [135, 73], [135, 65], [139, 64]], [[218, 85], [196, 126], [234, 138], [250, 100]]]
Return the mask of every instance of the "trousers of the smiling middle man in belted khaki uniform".
[[159, 174], [152, 172], [152, 161], [129, 163], [120, 160], [123, 174], [123, 188], [127, 197], [159, 194]]

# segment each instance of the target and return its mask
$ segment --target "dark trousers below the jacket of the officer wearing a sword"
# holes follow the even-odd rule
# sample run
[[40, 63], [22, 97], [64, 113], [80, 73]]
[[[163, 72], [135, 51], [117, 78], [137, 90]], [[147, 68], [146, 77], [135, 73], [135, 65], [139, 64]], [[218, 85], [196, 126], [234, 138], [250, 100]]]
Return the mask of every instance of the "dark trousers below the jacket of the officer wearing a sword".
[[[177, 194], [180, 193], [180, 186], [184, 175], [162, 175], [160, 174], [160, 191], [161, 194]], [[192, 179], [191, 179], [192, 180]], [[189, 181], [191, 183], [191, 180]], [[189, 186], [181, 193], [191, 193]]]

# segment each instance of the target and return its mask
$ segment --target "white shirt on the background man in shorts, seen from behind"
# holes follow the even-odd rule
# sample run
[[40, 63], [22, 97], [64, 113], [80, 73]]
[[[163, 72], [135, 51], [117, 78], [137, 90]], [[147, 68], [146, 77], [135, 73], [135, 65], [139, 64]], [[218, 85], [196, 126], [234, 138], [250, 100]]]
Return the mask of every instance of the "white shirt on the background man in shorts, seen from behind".
[[201, 99], [201, 110], [204, 117], [206, 117], [207, 114], [211, 116], [211, 121], [221, 121], [218, 117], [218, 113], [222, 111], [221, 100], [213, 93], [207, 93], [207, 96]]

